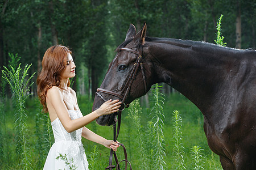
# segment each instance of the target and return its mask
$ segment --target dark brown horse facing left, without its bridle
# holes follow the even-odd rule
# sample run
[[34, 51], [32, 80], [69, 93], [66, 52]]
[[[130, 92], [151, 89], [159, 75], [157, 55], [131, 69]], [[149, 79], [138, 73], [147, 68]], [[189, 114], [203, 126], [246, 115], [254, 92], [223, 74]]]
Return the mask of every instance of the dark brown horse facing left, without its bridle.
[[[145, 95], [152, 84], [167, 83], [204, 114], [208, 145], [224, 169], [256, 169], [256, 51], [146, 37], [146, 24], [138, 33], [131, 24], [101, 84], [108, 92], [98, 91], [93, 110], [102, 99], [122, 100], [139, 50], [144, 69], [138, 67], [124, 103]], [[112, 125], [115, 114], [96, 121]]]

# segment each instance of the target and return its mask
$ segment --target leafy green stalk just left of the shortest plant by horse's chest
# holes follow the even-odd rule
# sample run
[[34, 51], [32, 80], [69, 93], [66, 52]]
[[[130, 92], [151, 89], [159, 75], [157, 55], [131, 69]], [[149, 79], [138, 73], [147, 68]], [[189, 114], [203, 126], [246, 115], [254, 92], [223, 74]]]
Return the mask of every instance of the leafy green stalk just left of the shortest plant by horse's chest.
[[185, 169], [185, 163], [184, 163], [184, 147], [182, 146], [182, 133], [181, 133], [181, 116], [179, 111], [174, 111], [172, 114], [173, 118], [172, 121], [174, 123], [174, 130], [173, 130], [173, 137], [172, 140], [174, 141], [173, 146], [173, 153], [174, 153], [174, 159], [176, 160], [176, 169]]

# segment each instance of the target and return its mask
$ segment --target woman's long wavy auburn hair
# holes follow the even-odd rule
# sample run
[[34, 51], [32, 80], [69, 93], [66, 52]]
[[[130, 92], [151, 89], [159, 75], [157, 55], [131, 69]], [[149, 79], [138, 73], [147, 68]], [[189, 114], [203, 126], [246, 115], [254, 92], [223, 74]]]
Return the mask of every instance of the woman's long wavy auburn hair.
[[[38, 75], [36, 84], [38, 85], [38, 96], [43, 105], [43, 112], [48, 112], [46, 106], [46, 94], [52, 86], [60, 87], [60, 74], [64, 71], [67, 65], [68, 53], [72, 53], [66, 46], [51, 46], [44, 53], [42, 60], [42, 71]], [[68, 80], [68, 86], [70, 82]]]

